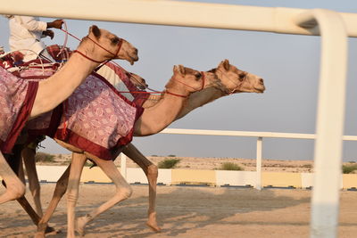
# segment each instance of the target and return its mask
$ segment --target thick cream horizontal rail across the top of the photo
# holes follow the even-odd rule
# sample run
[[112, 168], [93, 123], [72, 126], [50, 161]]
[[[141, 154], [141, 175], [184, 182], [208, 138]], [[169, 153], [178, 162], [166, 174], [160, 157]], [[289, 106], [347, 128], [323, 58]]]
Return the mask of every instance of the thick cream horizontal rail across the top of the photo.
[[[293, 19], [303, 12], [306, 9], [164, 0], [62, 0], [55, 7], [47, 0], [0, 4], [0, 14], [320, 35], [319, 28], [305, 29], [295, 24]], [[345, 21], [347, 35], [357, 37], [357, 14], [339, 14]]]

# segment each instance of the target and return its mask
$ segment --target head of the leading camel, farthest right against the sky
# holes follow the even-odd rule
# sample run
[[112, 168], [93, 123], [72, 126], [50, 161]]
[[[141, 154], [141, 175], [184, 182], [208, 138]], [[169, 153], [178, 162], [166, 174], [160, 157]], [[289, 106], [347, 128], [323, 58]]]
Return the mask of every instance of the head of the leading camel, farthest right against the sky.
[[220, 62], [215, 72], [220, 78], [222, 90], [227, 94], [258, 93], [265, 90], [264, 81], [261, 77], [249, 72], [238, 70], [236, 66], [229, 64], [228, 60]]

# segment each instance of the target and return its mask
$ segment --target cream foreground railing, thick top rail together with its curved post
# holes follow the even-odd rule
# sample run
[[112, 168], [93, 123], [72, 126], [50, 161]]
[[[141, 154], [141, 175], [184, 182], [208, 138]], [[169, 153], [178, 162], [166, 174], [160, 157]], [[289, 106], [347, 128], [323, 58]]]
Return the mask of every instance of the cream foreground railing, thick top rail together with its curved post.
[[[99, 8], [101, 11], [98, 11]], [[145, 0], [103, 0], [100, 4], [95, 0], [62, 0], [55, 7], [46, 0], [6, 1], [0, 5], [0, 14], [320, 35], [311, 237], [336, 237], [345, 118], [347, 37], [357, 37], [357, 14], [323, 9]], [[262, 149], [259, 144], [258, 139], [258, 151]]]

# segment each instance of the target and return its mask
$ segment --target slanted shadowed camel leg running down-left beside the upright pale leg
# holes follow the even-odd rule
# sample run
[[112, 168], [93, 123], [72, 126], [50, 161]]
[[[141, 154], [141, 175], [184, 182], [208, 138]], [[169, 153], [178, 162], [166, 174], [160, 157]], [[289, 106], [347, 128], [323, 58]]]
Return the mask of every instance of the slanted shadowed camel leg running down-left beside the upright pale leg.
[[39, 237], [45, 237], [46, 233], [46, 227], [48, 225], [48, 221], [54, 214], [54, 210], [57, 208], [58, 203], [61, 201], [62, 196], [64, 193], [66, 193], [67, 190], [67, 185], [68, 185], [68, 179], [70, 176], [70, 170], [71, 170], [71, 164], [70, 166], [64, 171], [62, 176], [58, 179], [55, 189], [54, 189], [54, 195], [52, 197], [52, 200], [50, 201], [45, 215], [40, 219], [38, 222], [37, 226], [37, 233], [35, 235], [36, 238]]

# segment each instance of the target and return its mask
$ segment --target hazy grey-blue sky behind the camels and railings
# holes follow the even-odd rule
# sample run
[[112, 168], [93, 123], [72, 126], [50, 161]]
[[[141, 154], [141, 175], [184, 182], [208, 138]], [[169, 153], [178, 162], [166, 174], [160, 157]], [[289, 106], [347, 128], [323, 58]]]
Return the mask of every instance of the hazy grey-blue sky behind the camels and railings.
[[[197, 1], [270, 7], [327, 8], [357, 12], [357, 2], [349, 1]], [[43, 21], [52, 19], [42, 18]], [[197, 29], [128, 24], [103, 21], [66, 20], [77, 37], [87, 35], [95, 24], [126, 38], [139, 50], [139, 62], [126, 70], [145, 78], [149, 86], [162, 90], [175, 64], [196, 70], [210, 70], [224, 59], [241, 70], [264, 78], [264, 94], [235, 94], [196, 109], [174, 122], [173, 128], [315, 133], [316, 103], [320, 70], [320, 37], [283, 35], [227, 29]], [[0, 18], [0, 45], [8, 50], [8, 22]], [[55, 31], [47, 45], [63, 44], [64, 35]], [[69, 46], [78, 41], [70, 37]], [[338, 47], [338, 45], [336, 45]], [[345, 135], [357, 135], [357, 39], [349, 39], [349, 66]], [[354, 66], [354, 67], [353, 67]], [[133, 144], [145, 155], [255, 158], [256, 138], [202, 135], [151, 135], [134, 137]], [[44, 152], [68, 152], [51, 139]], [[344, 144], [344, 160], [357, 160], [357, 144]], [[313, 141], [263, 139], [263, 158], [311, 160]]]

